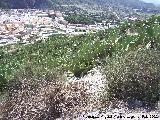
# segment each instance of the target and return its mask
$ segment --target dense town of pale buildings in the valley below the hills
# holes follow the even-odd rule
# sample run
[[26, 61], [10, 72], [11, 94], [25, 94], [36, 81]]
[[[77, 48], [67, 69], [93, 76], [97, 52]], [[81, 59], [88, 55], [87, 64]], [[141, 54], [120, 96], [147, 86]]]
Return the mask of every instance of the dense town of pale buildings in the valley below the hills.
[[[51, 35], [80, 35], [117, 26], [115, 23], [71, 24], [54, 10], [11, 9], [0, 12], [0, 46], [31, 44]], [[130, 18], [136, 20], [136, 18]]]

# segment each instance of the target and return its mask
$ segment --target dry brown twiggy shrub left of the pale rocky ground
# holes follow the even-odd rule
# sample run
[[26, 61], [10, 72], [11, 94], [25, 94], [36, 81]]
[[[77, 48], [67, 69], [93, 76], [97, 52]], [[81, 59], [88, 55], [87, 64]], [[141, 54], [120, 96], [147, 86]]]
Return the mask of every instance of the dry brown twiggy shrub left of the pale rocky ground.
[[12, 84], [2, 120], [55, 120], [74, 117], [87, 107], [89, 94], [83, 82], [66, 83], [62, 75], [42, 78], [22, 75], [18, 84]]

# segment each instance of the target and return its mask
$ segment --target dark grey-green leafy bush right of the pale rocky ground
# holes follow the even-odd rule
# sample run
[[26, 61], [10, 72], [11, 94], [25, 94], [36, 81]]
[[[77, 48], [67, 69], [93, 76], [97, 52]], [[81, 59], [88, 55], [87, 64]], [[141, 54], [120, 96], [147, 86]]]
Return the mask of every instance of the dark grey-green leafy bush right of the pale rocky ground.
[[108, 100], [142, 101], [154, 106], [159, 100], [160, 51], [140, 50], [116, 55], [106, 64]]

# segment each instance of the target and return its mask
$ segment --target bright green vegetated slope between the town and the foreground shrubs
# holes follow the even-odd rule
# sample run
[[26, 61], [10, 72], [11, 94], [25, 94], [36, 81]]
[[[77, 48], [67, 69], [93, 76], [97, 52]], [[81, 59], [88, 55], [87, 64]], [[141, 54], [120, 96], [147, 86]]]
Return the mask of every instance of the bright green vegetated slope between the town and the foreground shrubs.
[[0, 89], [6, 82], [30, 65], [34, 73], [46, 74], [54, 68], [71, 71], [81, 77], [106, 57], [117, 52], [149, 47], [158, 49], [160, 17], [145, 21], [123, 23], [95, 34], [79, 36], [52, 36], [47, 41], [30, 45], [9, 45], [0, 48]]

